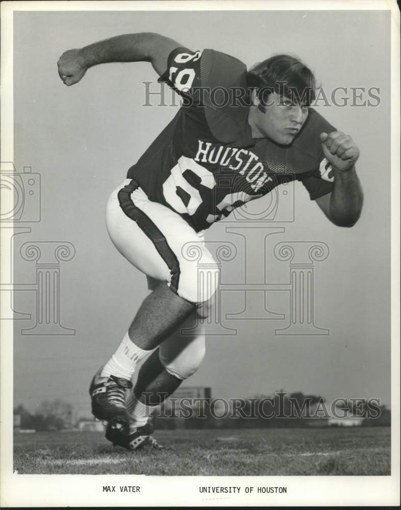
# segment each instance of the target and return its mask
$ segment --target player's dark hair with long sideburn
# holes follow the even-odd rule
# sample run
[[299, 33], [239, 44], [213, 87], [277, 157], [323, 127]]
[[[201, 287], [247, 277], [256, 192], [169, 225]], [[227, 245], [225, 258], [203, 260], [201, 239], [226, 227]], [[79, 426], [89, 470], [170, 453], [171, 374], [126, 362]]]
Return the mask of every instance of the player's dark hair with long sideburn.
[[246, 81], [250, 89], [257, 89], [262, 105], [267, 104], [267, 97], [272, 92], [307, 105], [315, 99], [313, 72], [290, 55], [275, 55], [255, 64], [247, 73]]

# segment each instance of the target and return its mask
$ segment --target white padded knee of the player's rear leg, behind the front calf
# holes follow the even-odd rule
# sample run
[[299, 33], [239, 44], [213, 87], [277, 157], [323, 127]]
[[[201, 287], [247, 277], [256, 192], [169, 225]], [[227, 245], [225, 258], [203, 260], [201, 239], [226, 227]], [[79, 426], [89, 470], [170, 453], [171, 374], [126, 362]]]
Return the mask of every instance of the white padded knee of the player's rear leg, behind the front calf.
[[159, 359], [165, 370], [178, 379], [187, 379], [200, 367], [205, 358], [205, 336], [197, 337], [177, 355], [171, 349], [159, 348]]

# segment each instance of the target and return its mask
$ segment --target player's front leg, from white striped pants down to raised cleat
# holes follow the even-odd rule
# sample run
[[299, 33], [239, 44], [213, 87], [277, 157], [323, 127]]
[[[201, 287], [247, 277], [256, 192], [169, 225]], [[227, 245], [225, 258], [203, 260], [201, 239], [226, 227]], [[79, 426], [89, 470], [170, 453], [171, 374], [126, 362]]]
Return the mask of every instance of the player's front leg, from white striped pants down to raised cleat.
[[[156, 282], [89, 390], [92, 413], [125, 429], [132, 423], [125, 397], [132, 389], [137, 363], [165, 341], [198, 305], [210, 299], [217, 288], [218, 267], [202, 233], [195, 232], [174, 211], [149, 200], [133, 180], [124, 181], [110, 195], [106, 224], [118, 251]], [[183, 253], [188, 242], [199, 248], [207, 267], [202, 281], [209, 283], [202, 288], [198, 287], [196, 260]]]

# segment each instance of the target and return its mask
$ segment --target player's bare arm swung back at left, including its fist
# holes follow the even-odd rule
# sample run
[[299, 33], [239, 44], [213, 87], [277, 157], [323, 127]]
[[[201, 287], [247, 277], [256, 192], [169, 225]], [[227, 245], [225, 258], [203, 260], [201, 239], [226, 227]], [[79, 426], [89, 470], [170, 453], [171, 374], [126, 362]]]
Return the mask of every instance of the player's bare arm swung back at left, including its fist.
[[143, 32], [124, 34], [95, 42], [80, 49], [69, 49], [57, 62], [65, 85], [78, 83], [89, 69], [108, 62], [151, 62], [162, 75], [167, 69], [171, 51], [181, 46], [177, 41], [159, 34]]

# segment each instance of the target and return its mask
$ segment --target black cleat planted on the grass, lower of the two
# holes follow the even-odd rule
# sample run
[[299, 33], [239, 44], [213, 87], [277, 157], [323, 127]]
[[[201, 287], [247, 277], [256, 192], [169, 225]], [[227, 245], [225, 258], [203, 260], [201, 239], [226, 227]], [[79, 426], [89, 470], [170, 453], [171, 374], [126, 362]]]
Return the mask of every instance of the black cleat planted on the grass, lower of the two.
[[140, 450], [145, 446], [151, 446], [157, 449], [164, 448], [151, 436], [153, 430], [153, 425], [151, 423], [146, 423], [146, 425], [142, 427], [131, 425], [127, 433], [127, 429], [116, 427], [112, 423], [109, 423], [106, 429], [106, 439], [113, 443], [113, 446], [121, 446], [130, 451]]

